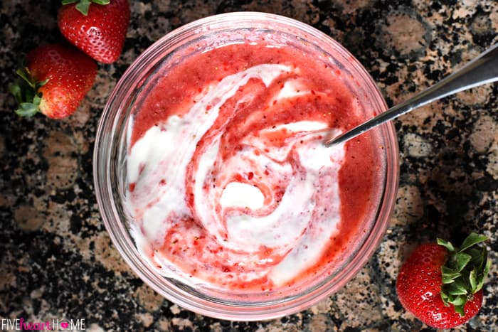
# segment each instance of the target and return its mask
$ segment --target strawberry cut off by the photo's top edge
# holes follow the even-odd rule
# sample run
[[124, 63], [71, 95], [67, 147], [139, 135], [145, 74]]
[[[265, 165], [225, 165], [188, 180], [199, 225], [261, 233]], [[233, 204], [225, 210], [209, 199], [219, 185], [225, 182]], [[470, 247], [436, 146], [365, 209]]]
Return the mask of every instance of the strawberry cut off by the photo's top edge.
[[128, 1], [63, 0], [62, 3], [58, 26], [64, 37], [95, 60], [114, 63], [120, 57], [128, 29]]

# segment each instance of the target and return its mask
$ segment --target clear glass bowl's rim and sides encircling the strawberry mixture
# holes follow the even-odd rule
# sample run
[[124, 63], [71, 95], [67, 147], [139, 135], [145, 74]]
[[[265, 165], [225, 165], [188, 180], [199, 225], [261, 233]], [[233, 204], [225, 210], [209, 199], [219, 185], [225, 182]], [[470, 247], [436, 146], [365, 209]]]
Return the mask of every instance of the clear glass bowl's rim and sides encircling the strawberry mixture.
[[[189, 280], [174, 267], [168, 272], [153, 266], [137, 240], [137, 222], [127, 205], [130, 183], [127, 164], [130, 128], [139, 108], [158, 79], [189, 58], [237, 43], [290, 45], [316, 55], [354, 95], [356, 110], [364, 119], [386, 110], [386, 103], [361, 64], [324, 33], [283, 16], [230, 13], [203, 18], [168, 33], [139, 55], [121, 77], [102, 113], [93, 155], [97, 203], [112, 242], [132, 270], [169, 301], [198, 314], [229, 320], [255, 321], [277, 318], [307, 309], [330, 296], [366, 264], [383, 237], [398, 188], [398, 145], [392, 124], [364, 134], [375, 159], [376, 188], [365, 206], [364, 218], [337, 247], [337, 253], [320, 269], [285, 287], [275, 289], [223, 289], [208, 282]], [[218, 69], [218, 68], [216, 68]], [[351, 124], [351, 126], [354, 124]], [[358, 139], [346, 144], [358, 144]], [[346, 145], [347, 146], [347, 145]], [[362, 179], [357, 179], [362, 181]], [[346, 223], [343, 221], [342, 223]], [[345, 225], [345, 224], [344, 224]], [[340, 226], [342, 227], [342, 226]], [[345, 228], [344, 228], [345, 229]], [[145, 246], [146, 247], [146, 246]]]

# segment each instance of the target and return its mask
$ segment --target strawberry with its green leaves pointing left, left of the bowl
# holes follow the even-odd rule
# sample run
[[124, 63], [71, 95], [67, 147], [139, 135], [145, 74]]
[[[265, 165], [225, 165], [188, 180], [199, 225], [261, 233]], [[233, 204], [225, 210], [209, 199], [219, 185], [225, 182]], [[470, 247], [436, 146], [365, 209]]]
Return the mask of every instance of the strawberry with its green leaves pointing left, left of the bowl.
[[17, 73], [23, 80], [10, 87], [19, 104], [16, 113], [62, 119], [78, 109], [95, 81], [97, 64], [73, 46], [42, 45], [28, 52]]

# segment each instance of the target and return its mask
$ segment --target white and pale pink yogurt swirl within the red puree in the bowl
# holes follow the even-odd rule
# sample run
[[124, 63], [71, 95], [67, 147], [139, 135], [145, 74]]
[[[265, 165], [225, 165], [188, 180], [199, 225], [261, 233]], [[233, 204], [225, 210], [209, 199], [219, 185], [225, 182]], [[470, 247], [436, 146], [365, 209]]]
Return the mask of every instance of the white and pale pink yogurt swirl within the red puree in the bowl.
[[[162, 274], [187, 277], [194, 270], [201, 280], [213, 273], [211, 263], [222, 261], [233, 278], [250, 282], [266, 277], [280, 286], [322, 257], [338, 232], [338, 177], [344, 160], [343, 145], [322, 144], [328, 124], [298, 121], [258, 129], [240, 139], [236, 153], [223, 158], [232, 117], [223, 123], [218, 117], [227, 100], [250, 80], [266, 87], [285, 81], [269, 108], [311, 93], [304, 82], [285, 78], [297, 70], [255, 65], [213, 82], [194, 107], [151, 127], [130, 149], [127, 181], [133, 190], [127, 193], [127, 209], [137, 220], [133, 236]], [[250, 91], [244, 96], [234, 116], [253, 98]], [[275, 137], [281, 142], [275, 143]], [[193, 223], [187, 227], [181, 220]], [[200, 237], [204, 247], [195, 255], [172, 258], [175, 252], [164, 252], [172, 246], [166, 239], [186, 246], [188, 239]], [[182, 259], [185, 268], [179, 267]]]

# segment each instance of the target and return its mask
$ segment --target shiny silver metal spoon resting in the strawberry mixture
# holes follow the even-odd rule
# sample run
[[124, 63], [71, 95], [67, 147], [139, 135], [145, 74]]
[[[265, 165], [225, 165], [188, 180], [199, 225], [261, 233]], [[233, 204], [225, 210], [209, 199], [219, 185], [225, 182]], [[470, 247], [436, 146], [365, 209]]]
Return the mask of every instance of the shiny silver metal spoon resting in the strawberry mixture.
[[477, 58], [470, 61], [470, 63], [467, 63], [464, 67], [460, 68], [460, 70], [457, 70], [455, 73], [440, 80], [432, 87], [418, 93], [409, 100], [406, 100], [406, 102], [391, 107], [386, 112], [378, 114], [376, 117], [369, 119], [363, 124], [360, 124], [339, 136], [327, 139], [324, 141], [324, 144], [326, 146], [331, 146], [332, 144], [342, 143], [363, 134], [373, 127], [377, 127], [379, 124], [396, 119], [396, 117], [406, 114], [415, 108], [439, 100], [448, 95], [470, 89], [471, 87], [496, 82], [497, 80], [498, 44], [494, 44]]

